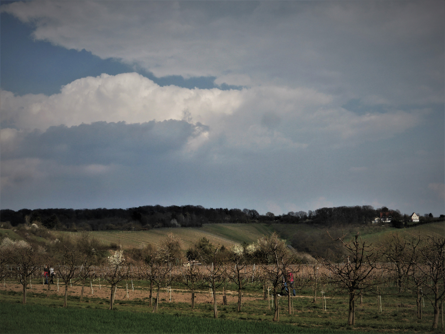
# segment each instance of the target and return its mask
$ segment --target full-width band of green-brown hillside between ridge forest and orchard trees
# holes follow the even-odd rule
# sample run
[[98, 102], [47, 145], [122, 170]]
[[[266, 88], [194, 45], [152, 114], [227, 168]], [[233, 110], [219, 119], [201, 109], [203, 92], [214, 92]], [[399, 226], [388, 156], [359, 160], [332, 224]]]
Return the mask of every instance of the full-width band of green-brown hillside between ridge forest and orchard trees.
[[[121, 245], [122, 248], [143, 248], [151, 244], [154, 247], [160, 245], [163, 239], [169, 233], [181, 238], [183, 241], [183, 249], [190, 248], [202, 237], [206, 237], [212, 244], [220, 244], [226, 247], [231, 247], [234, 244], [240, 244], [243, 241], [247, 243], [255, 242], [259, 238], [270, 235], [276, 231], [279, 235], [286, 239], [295, 249], [300, 252], [308, 253], [312, 256], [325, 256], [328, 248], [334, 249], [336, 242], [328, 238], [326, 227], [312, 224], [203, 224], [202, 227], [197, 228], [153, 228], [149, 231], [89, 231], [91, 236], [95, 237], [104, 246]], [[14, 232], [16, 231], [16, 232]], [[31, 233], [32, 229], [20, 232], [15, 229], [0, 229], [0, 238], [4, 236], [10, 237], [12, 240], [25, 239], [38, 244], [44, 245], [51, 242], [55, 238], [61, 237], [79, 237], [79, 232], [61, 232], [48, 231], [45, 229], [45, 234], [40, 236], [43, 232], [35, 231]], [[29, 233], [28, 233], [29, 232]], [[346, 226], [342, 228], [331, 228], [329, 232], [332, 236], [341, 236], [348, 234], [349, 236], [360, 236], [372, 242], [373, 244], [380, 244], [385, 240], [385, 236], [393, 232], [406, 236], [445, 236], [445, 222], [424, 224], [413, 228], [392, 228], [389, 226]]]

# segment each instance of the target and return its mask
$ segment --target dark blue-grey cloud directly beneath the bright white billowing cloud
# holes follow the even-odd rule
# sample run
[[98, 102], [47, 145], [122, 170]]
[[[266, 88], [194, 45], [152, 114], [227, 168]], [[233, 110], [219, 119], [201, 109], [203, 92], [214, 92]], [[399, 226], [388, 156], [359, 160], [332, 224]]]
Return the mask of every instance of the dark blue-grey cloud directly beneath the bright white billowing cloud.
[[133, 165], [181, 150], [189, 138], [208, 127], [200, 123], [166, 120], [126, 124], [93, 122], [79, 126], [51, 126], [25, 134], [14, 151], [2, 159], [52, 159], [63, 164], [118, 163]]

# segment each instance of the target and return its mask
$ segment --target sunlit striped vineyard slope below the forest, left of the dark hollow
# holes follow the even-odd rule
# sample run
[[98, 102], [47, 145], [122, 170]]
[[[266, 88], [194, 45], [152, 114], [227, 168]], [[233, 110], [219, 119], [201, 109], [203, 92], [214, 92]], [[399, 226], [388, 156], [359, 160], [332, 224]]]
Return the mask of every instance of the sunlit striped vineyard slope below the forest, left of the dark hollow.
[[[271, 228], [265, 224], [204, 224], [202, 228], [156, 228], [150, 231], [91, 231], [91, 236], [103, 244], [120, 244], [122, 248], [141, 248], [147, 244], [158, 246], [169, 233], [184, 242], [184, 249], [192, 246], [202, 237], [212, 244], [231, 247], [234, 244], [258, 240], [271, 234]], [[67, 233], [76, 237], [79, 233]]]

